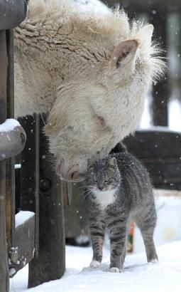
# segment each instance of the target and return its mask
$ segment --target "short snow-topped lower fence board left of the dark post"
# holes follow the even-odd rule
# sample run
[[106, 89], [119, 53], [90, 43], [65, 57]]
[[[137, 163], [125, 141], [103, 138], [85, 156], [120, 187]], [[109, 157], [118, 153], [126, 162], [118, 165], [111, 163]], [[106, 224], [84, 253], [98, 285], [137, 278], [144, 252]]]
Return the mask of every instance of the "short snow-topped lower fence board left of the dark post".
[[[16, 214], [16, 217], [18, 214]], [[13, 277], [17, 271], [28, 264], [35, 252], [35, 215], [16, 226], [15, 241], [18, 246], [18, 262], [10, 264], [10, 274]]]

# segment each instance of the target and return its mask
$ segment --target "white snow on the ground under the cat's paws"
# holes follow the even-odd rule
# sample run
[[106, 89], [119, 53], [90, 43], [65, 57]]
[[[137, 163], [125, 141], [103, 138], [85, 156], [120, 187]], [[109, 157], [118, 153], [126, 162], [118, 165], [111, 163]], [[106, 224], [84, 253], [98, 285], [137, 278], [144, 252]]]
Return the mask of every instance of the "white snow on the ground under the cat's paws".
[[158, 264], [147, 264], [146, 254], [126, 256], [124, 271], [110, 273], [109, 249], [104, 246], [103, 264], [96, 270], [85, 268], [92, 260], [92, 248], [66, 247], [67, 269], [57, 281], [27, 289], [28, 267], [11, 279], [16, 292], [180, 292], [181, 241], [159, 246]]

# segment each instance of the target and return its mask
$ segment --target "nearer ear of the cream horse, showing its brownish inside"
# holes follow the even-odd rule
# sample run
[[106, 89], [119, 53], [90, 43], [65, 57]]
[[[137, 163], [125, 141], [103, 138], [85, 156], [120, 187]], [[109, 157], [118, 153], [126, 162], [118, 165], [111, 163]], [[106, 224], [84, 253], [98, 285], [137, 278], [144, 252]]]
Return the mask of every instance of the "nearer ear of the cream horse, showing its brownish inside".
[[135, 67], [136, 51], [138, 49], [138, 41], [136, 39], [122, 41], [119, 43], [111, 56], [111, 68], [117, 71], [124, 66], [128, 66], [131, 70]]

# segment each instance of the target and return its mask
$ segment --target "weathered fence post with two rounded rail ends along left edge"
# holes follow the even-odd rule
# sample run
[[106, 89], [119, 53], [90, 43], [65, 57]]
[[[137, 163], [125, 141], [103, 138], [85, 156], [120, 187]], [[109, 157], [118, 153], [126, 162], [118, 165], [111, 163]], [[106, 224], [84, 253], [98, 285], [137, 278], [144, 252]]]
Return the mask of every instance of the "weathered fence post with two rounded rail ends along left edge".
[[[10, 6], [8, 1], [0, 1], [0, 124], [6, 122], [6, 118], [13, 117], [13, 33], [11, 28], [17, 26], [26, 16], [26, 4], [22, 2], [14, 1]], [[8, 251], [11, 250], [12, 261], [16, 257], [15, 251], [11, 249], [12, 246], [15, 246], [13, 219], [15, 212], [13, 209], [15, 202], [14, 161], [13, 158], [9, 157], [21, 152], [26, 141], [26, 135], [22, 127], [18, 127], [16, 133], [15, 131], [7, 131], [5, 135], [3, 127], [1, 127], [1, 130], [0, 291], [6, 292], [9, 291]], [[11, 138], [13, 138], [13, 145], [9, 141]], [[9, 160], [5, 160], [7, 158]]]

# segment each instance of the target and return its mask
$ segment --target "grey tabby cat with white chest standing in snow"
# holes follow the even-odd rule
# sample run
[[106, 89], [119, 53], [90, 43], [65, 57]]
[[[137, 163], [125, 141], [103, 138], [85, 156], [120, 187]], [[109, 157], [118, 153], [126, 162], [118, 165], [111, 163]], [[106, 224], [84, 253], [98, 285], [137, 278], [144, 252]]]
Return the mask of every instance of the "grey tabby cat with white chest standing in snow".
[[147, 261], [158, 260], [153, 242], [156, 212], [152, 185], [145, 167], [125, 147], [103, 160], [89, 160], [83, 198], [92, 239], [91, 268], [102, 262], [106, 228], [111, 242], [110, 271], [121, 271], [130, 219], [141, 229]]

